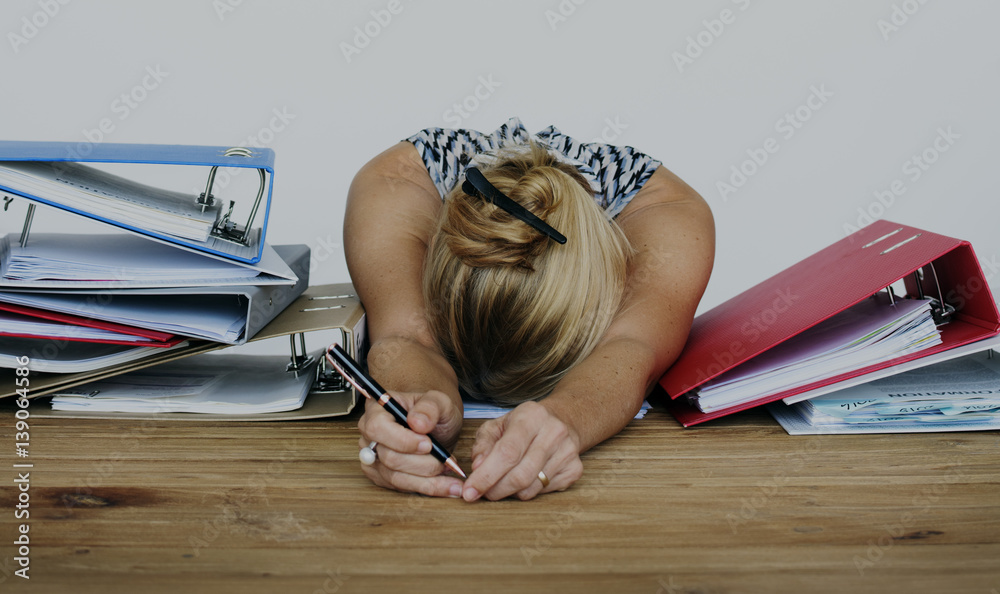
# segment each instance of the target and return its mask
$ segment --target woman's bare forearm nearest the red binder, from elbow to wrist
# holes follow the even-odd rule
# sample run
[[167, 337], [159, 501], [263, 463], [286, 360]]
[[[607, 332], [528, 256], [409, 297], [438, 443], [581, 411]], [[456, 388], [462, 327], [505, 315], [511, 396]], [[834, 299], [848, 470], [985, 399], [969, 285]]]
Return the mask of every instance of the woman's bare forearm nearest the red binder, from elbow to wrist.
[[580, 453], [616, 435], [635, 417], [664, 364], [648, 346], [621, 338], [598, 346], [542, 405], [574, 435]]

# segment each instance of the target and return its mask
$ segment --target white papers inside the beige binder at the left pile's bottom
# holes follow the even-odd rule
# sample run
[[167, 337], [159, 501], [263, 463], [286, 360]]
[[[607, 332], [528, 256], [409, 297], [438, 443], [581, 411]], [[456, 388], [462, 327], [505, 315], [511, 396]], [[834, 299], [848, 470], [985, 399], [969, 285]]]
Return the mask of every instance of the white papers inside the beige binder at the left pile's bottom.
[[[319, 357], [313, 357], [319, 360]], [[300, 408], [315, 363], [285, 371], [286, 357], [196, 355], [56, 392], [52, 409], [255, 415]]]

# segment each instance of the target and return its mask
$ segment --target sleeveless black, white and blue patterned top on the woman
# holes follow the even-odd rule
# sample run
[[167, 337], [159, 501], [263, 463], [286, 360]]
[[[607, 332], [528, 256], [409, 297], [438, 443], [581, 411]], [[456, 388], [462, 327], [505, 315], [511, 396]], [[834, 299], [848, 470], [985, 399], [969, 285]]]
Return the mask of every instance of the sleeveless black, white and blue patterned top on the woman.
[[427, 128], [406, 141], [417, 148], [443, 199], [463, 179], [466, 167], [488, 163], [497, 149], [527, 146], [532, 138], [572, 163], [590, 181], [594, 198], [608, 218], [618, 215], [660, 166], [659, 161], [630, 146], [579, 142], [555, 126], [532, 137], [518, 118], [511, 118], [492, 134]]

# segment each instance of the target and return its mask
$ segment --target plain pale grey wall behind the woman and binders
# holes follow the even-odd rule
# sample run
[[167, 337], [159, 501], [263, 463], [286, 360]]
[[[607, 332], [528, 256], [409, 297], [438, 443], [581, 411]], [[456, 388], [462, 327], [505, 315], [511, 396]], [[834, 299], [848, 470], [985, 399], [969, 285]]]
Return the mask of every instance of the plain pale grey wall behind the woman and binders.
[[[270, 146], [269, 240], [308, 243], [314, 284], [348, 279], [344, 201], [367, 159], [423, 127], [518, 115], [635, 146], [705, 196], [718, 256], [702, 310], [869, 217], [972, 241], [1000, 288], [996, 2], [6, 0], [2, 14], [3, 138]], [[78, 227], [51, 211], [35, 225]]]

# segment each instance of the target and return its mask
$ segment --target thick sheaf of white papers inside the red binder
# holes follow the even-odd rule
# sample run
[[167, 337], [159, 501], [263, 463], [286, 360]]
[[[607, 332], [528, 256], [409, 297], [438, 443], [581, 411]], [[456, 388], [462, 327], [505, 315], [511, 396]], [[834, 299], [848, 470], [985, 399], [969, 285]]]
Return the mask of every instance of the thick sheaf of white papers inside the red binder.
[[930, 300], [890, 304], [878, 293], [705, 383], [691, 400], [712, 412], [940, 343]]

